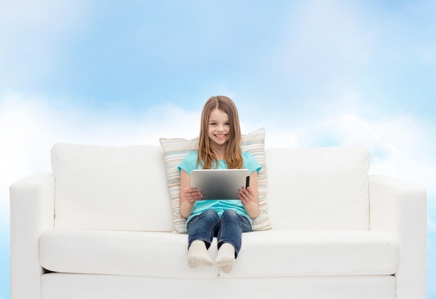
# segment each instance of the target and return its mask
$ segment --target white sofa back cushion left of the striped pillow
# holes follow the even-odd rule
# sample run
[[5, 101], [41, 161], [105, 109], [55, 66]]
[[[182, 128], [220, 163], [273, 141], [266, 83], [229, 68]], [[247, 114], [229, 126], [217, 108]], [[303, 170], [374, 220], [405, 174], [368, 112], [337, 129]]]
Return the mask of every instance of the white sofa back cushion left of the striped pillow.
[[55, 228], [173, 230], [159, 145], [52, 147]]

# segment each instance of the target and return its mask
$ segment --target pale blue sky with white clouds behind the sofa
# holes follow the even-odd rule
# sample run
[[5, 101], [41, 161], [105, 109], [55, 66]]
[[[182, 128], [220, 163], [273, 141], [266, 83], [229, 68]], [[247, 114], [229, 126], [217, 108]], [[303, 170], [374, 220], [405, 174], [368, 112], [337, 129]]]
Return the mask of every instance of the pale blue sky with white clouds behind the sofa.
[[0, 0], [0, 299], [8, 187], [59, 141], [193, 138], [232, 97], [267, 147], [359, 144], [428, 191], [436, 298], [436, 1]]

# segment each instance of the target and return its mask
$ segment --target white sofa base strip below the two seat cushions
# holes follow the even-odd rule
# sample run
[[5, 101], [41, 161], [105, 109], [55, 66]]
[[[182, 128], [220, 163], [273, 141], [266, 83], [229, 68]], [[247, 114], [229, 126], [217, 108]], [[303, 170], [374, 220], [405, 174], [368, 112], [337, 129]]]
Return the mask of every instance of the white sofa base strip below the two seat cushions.
[[[178, 280], [116, 275], [47, 273], [41, 299], [299, 298], [394, 299], [392, 275], [260, 277]], [[225, 296], [224, 296], [224, 293]]]

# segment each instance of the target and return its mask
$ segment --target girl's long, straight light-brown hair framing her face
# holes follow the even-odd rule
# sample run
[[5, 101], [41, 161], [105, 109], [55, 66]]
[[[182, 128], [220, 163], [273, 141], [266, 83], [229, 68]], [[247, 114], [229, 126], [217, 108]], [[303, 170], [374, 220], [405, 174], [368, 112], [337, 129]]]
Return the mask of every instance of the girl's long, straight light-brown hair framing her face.
[[240, 149], [241, 128], [239, 123], [238, 109], [235, 103], [224, 95], [210, 97], [201, 112], [201, 127], [198, 142], [197, 165], [203, 165], [203, 169], [217, 168], [217, 156], [210, 149], [208, 137], [209, 115], [215, 109], [219, 109], [228, 115], [230, 131], [228, 132], [228, 143], [224, 152], [224, 160], [228, 168], [242, 168], [242, 154]]

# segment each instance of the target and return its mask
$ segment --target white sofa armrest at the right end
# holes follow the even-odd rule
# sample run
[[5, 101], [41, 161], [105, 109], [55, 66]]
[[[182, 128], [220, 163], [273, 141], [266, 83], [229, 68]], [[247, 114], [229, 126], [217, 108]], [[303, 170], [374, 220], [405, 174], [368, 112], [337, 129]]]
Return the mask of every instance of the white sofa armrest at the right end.
[[370, 229], [396, 237], [396, 299], [426, 298], [427, 195], [419, 185], [370, 175]]

